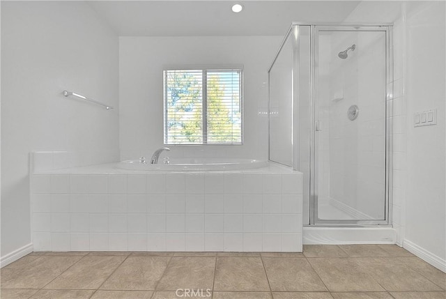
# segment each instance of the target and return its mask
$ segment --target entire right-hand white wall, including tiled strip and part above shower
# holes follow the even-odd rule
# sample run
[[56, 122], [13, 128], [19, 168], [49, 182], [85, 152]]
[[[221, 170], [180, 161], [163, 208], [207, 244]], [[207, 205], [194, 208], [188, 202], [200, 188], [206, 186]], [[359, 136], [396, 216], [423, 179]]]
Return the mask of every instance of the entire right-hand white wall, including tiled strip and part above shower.
[[[392, 224], [397, 244], [446, 270], [445, 2], [364, 1], [346, 21], [394, 22]], [[413, 127], [434, 108], [437, 125]]]

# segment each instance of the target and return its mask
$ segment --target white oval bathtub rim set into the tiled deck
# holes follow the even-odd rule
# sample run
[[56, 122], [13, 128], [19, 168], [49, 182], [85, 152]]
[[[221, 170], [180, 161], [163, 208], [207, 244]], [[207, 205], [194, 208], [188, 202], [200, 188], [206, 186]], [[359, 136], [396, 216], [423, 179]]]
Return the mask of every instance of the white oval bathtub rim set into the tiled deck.
[[141, 164], [139, 160], [118, 162], [120, 169], [146, 171], [231, 171], [255, 169], [268, 166], [268, 162], [255, 159], [240, 158], [172, 158], [169, 164]]

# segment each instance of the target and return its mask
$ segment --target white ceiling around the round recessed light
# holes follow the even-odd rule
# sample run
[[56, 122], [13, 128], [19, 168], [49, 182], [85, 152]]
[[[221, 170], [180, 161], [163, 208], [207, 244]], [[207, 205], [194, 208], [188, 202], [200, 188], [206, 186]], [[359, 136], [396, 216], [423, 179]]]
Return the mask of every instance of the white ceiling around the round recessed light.
[[[87, 1], [118, 36], [283, 36], [291, 22], [342, 22], [360, 1]], [[233, 3], [245, 9], [233, 13]]]

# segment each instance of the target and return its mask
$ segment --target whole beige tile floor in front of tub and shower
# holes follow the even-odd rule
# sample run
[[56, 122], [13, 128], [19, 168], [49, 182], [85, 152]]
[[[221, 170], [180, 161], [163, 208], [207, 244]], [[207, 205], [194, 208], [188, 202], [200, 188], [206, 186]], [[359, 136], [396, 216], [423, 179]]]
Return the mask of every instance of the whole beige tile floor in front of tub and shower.
[[396, 245], [307, 245], [303, 254], [33, 252], [1, 269], [0, 297], [445, 299], [446, 274]]

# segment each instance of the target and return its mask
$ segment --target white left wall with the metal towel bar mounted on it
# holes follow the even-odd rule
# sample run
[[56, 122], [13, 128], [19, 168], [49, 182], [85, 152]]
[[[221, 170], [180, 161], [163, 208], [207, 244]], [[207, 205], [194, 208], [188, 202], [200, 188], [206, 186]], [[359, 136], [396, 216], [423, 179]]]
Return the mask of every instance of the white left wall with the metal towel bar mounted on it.
[[31, 243], [29, 152], [118, 150], [118, 38], [84, 2], [1, 2], [1, 256]]

